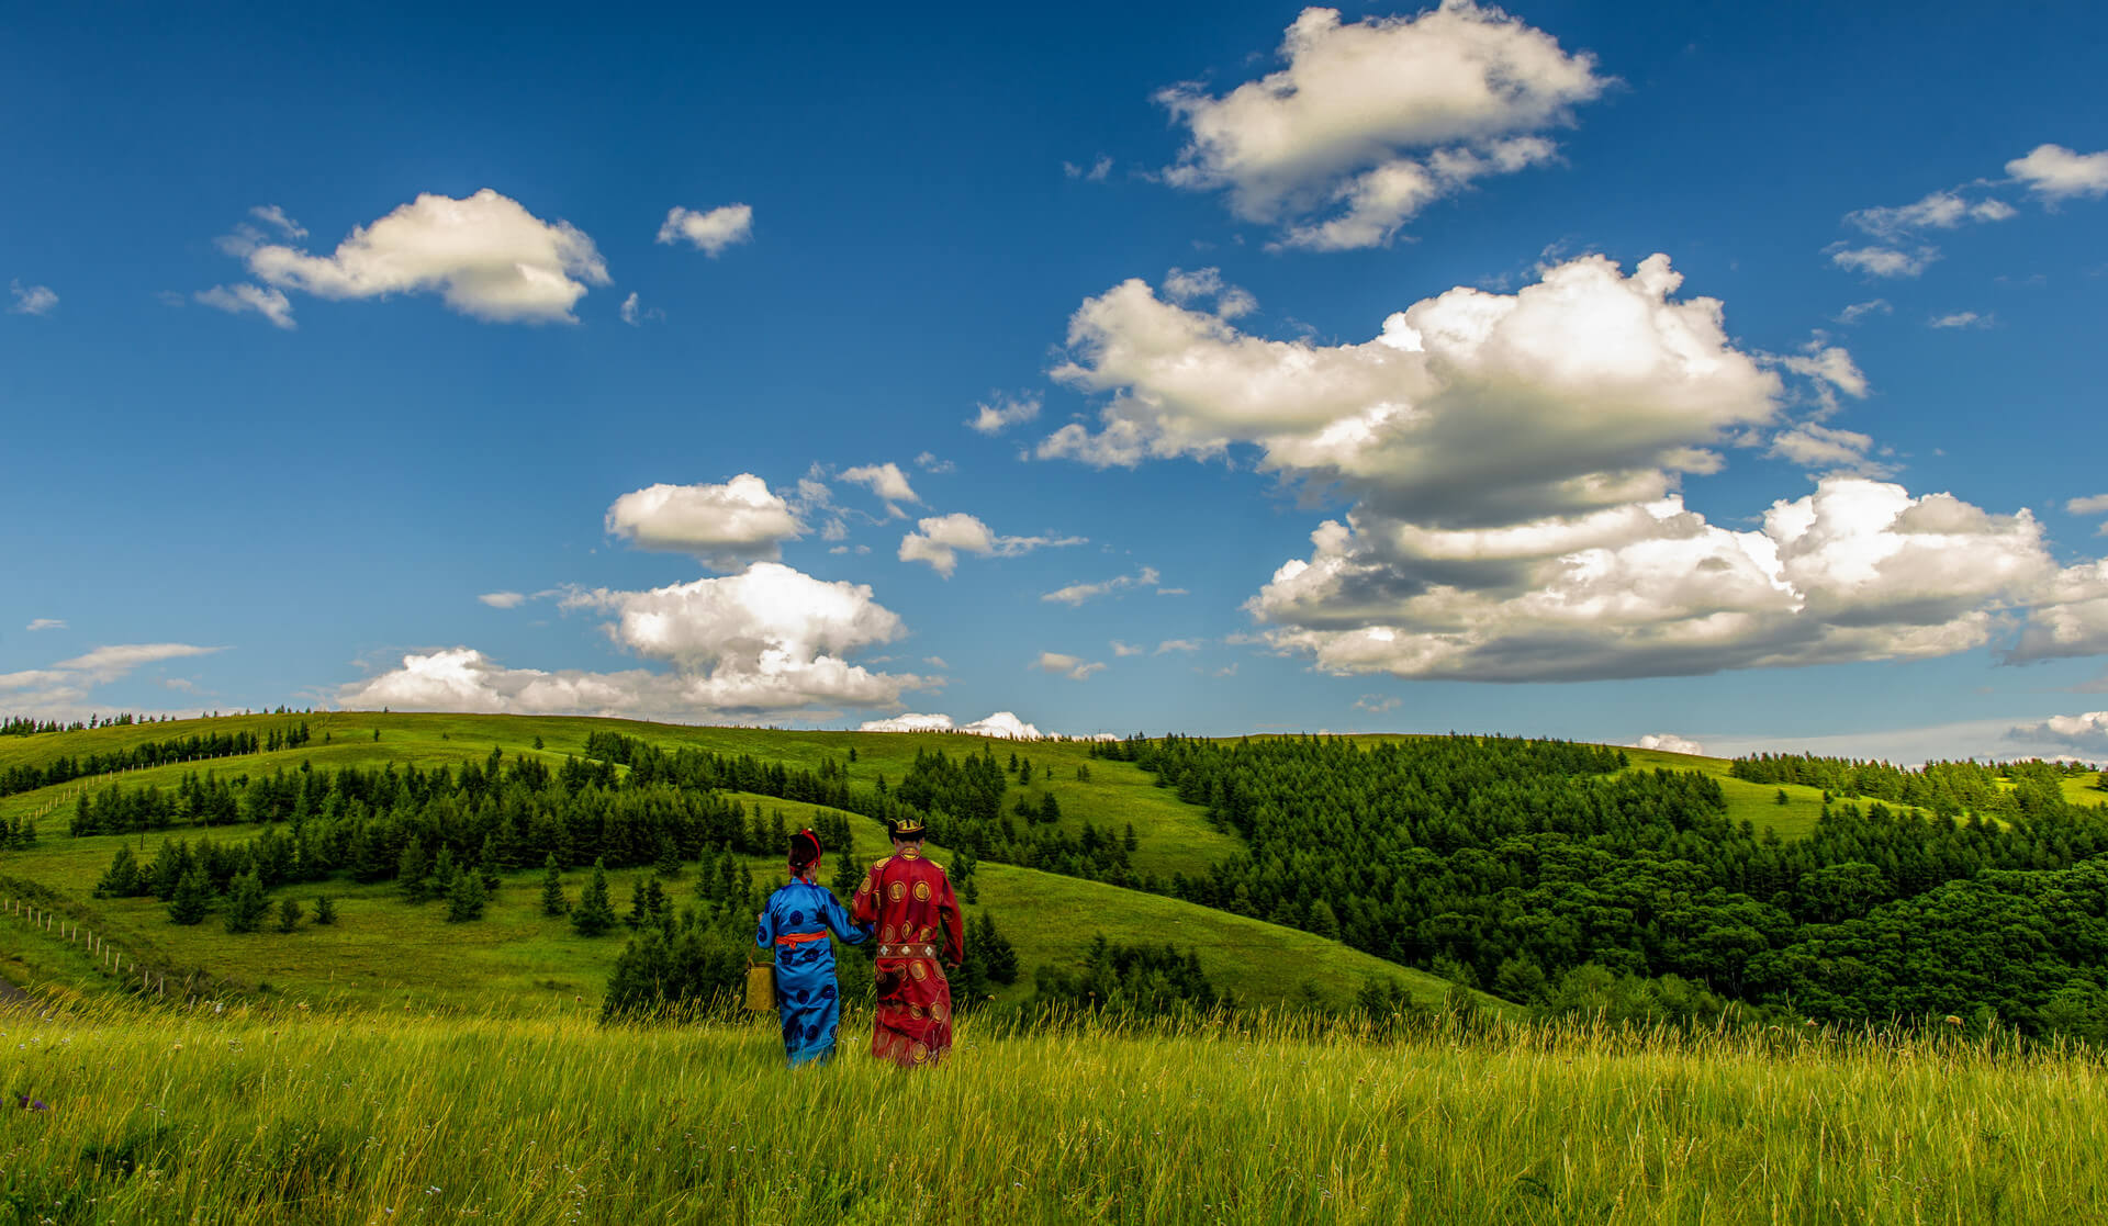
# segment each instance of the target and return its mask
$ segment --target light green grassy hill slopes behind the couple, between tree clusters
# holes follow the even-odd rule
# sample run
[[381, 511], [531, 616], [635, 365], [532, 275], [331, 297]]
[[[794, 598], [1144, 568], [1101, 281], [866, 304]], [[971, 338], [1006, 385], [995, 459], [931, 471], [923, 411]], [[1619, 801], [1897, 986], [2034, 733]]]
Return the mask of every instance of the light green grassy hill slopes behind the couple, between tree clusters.
[[[426, 716], [426, 714], [327, 714], [327, 716], [234, 716], [209, 720], [207, 731], [285, 729], [308, 720], [314, 739], [295, 750], [245, 754], [209, 763], [186, 763], [126, 771], [131, 786], [173, 788], [190, 771], [266, 773], [297, 769], [379, 767], [384, 763], [415, 763], [434, 767], [457, 760], [479, 760], [491, 746], [508, 754], [535, 754], [561, 760], [580, 752], [594, 729], [616, 727], [662, 746], [698, 746], [721, 754], [755, 754], [795, 767], [818, 767], [822, 758], [837, 763], [847, 750], [858, 750], [852, 777], [877, 782], [883, 773], [898, 782], [915, 760], [917, 748], [942, 748], [959, 756], [993, 748], [1008, 760], [1012, 748], [1033, 760], [1037, 775], [1024, 788], [1037, 798], [1052, 788], [1062, 803], [1062, 824], [1081, 830], [1084, 822], [1111, 826], [1134, 824], [1140, 836], [1136, 862], [1151, 872], [1199, 872], [1242, 843], [1214, 830], [1206, 815], [1183, 805], [1153, 777], [1128, 763], [1092, 760], [1084, 744], [1010, 746], [982, 737], [940, 733], [782, 733], [761, 729], [683, 729], [628, 720], [584, 718], [516, 718], [516, 716]], [[375, 741], [373, 731], [382, 737]], [[0, 737], [0, 752], [15, 760], [48, 760], [59, 754], [122, 750], [141, 741], [192, 735], [194, 720], [95, 729], [86, 733], [44, 733], [38, 737]], [[544, 748], [533, 750], [542, 737]], [[42, 741], [42, 746], [38, 746]], [[23, 744], [38, 748], [23, 754]], [[4, 765], [4, 758], [0, 758]], [[1079, 782], [1075, 767], [1088, 765], [1090, 779]], [[453, 925], [436, 902], [409, 906], [392, 883], [354, 883], [337, 878], [285, 887], [272, 893], [295, 897], [312, 910], [316, 893], [329, 893], [339, 921], [333, 927], [304, 925], [295, 933], [278, 933], [266, 925], [261, 933], [228, 933], [219, 916], [202, 925], [169, 923], [167, 908], [156, 899], [93, 899], [95, 881], [110, 866], [118, 845], [131, 843], [141, 859], [152, 859], [154, 847], [167, 836], [215, 841], [247, 841], [255, 826], [221, 826], [207, 832], [175, 830], [154, 834], [97, 834], [70, 838], [63, 834], [72, 805], [59, 798], [78, 788], [101, 788], [112, 777], [76, 782], [42, 792], [0, 800], [0, 817], [23, 817], [46, 811], [40, 819], [42, 843], [27, 853], [0, 855], [0, 891], [8, 883], [34, 883], [63, 897], [76, 918], [116, 942], [133, 958], [152, 967], [209, 969], [226, 984], [255, 988], [268, 984], [285, 998], [335, 1001], [358, 1007], [388, 1009], [479, 1009], [540, 1011], [584, 1007], [597, 1009], [601, 988], [616, 954], [620, 935], [580, 937], [567, 921], [540, 910], [542, 874], [506, 874], [485, 916]], [[1016, 792], [1016, 788], [1012, 788]], [[784, 815], [793, 830], [814, 819], [814, 807], [772, 796], [734, 794], [748, 809]], [[852, 815], [856, 853], [873, 859], [887, 851], [879, 822]], [[938, 862], [946, 849], [934, 847]], [[748, 857], [755, 881], [767, 889], [780, 881], [780, 864], [772, 857]], [[831, 870], [828, 870], [831, 872]], [[637, 878], [649, 870], [611, 870], [609, 887], [618, 908], [626, 906]], [[1370, 977], [1402, 984], [1417, 1001], [1436, 1005], [1450, 984], [1351, 950], [1339, 942], [1261, 923], [1172, 897], [1126, 891], [1119, 887], [1056, 876], [1006, 864], [982, 864], [978, 870], [980, 902], [968, 914], [991, 912], [1003, 935], [1016, 946], [1027, 975], [999, 992], [999, 1003], [1031, 992], [1029, 971], [1043, 963], [1075, 963], [1094, 935], [1119, 944], [1172, 944], [1191, 948], [1210, 980], [1246, 1003], [1303, 1001], [1315, 996], [1328, 1005], [1345, 1005]], [[565, 874], [565, 889], [575, 899], [586, 872]], [[691, 902], [694, 872], [668, 883], [677, 904]], [[30, 984], [95, 984], [93, 963], [63, 942], [23, 931], [0, 921], [0, 950], [15, 961], [6, 973]], [[1488, 998], [1490, 1003], [1490, 998]]]

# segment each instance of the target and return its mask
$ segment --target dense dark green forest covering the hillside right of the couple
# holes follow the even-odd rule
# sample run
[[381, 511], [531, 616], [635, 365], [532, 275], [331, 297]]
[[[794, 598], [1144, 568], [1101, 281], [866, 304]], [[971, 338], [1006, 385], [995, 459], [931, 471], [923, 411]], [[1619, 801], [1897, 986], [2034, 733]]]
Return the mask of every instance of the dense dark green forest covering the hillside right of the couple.
[[[1659, 1017], [1729, 1001], [1834, 1020], [1986, 1005], [2049, 1026], [2049, 1001], [2066, 992], [2064, 1013], [2083, 1013], [2078, 946], [2053, 946], [2041, 973], [2003, 992], [1956, 977], [1906, 990], [1908, 965], [1885, 980], [1811, 952], [1834, 950], [1840, 925], [1904, 925], [1960, 885], [1956, 897], [1973, 899], [2005, 881], [1998, 872], [2108, 855], [2108, 807], [2074, 807], [2028, 771], [2005, 788], [2019, 796], [2005, 822], [1828, 805], [1807, 838], [1781, 841], [1731, 824], [1705, 775], [1621, 771], [1617, 750], [1592, 746], [1170, 737], [1130, 748], [1250, 847], [1202, 878], [1174, 878], [1174, 893], [1509, 998], [1617, 1001]], [[2013, 908], [2034, 906], [2007, 893], [2024, 899], [2000, 895]], [[1897, 942], [1882, 954], [1912, 948]], [[1866, 961], [1872, 937], [1863, 946], [1849, 956]], [[1634, 986], [1644, 982], [1655, 986]]]

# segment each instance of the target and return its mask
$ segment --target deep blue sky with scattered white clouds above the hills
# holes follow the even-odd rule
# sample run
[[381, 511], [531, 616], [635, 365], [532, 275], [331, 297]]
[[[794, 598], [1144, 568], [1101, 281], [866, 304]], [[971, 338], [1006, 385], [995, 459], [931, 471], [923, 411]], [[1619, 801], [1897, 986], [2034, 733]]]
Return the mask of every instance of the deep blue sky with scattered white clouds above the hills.
[[2102, 758], [2104, 36], [19, 13], [0, 712]]

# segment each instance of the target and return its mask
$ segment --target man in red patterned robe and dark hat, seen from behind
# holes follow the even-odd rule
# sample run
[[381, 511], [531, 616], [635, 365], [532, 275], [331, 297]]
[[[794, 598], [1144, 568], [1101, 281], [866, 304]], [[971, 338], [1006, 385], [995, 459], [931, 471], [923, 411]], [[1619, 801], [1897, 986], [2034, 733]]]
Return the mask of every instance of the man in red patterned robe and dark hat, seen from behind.
[[856, 923], [877, 933], [879, 1017], [871, 1053], [921, 1068], [951, 1051], [951, 982], [938, 965], [965, 958], [965, 925], [944, 870], [923, 859], [923, 824], [894, 822], [894, 853], [856, 887]]

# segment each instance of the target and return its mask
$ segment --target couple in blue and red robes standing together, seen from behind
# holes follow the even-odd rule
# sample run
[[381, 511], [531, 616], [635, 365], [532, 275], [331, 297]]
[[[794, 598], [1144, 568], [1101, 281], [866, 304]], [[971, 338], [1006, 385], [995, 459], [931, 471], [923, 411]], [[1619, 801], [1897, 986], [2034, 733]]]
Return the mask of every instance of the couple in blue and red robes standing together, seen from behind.
[[[944, 965], [965, 958], [965, 925], [944, 870], [921, 853], [919, 819], [892, 822], [894, 853], [864, 872], [856, 897], [841, 902], [818, 883], [820, 841], [790, 836], [790, 883], [769, 895], [755, 944], [776, 950], [776, 1009], [793, 1066], [835, 1055], [841, 988], [826, 935], [879, 940], [879, 1013], [871, 1053], [902, 1068], [936, 1064], [951, 1051], [951, 982]], [[942, 963], [938, 961], [942, 956]]]

